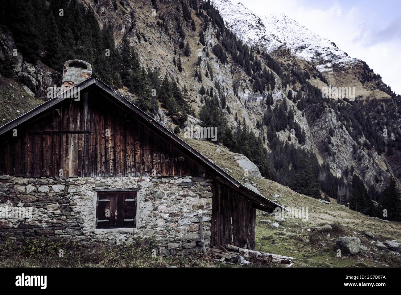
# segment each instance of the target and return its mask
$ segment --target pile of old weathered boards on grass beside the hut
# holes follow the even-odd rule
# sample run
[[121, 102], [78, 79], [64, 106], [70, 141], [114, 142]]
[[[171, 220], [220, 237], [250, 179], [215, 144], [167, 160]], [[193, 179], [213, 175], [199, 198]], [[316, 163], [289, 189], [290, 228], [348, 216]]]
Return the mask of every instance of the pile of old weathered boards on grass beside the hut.
[[267, 265], [271, 263], [280, 263], [287, 264], [287, 267], [292, 266], [291, 260], [294, 260], [294, 257], [282, 256], [278, 254], [270, 254], [266, 252], [262, 252], [261, 248], [259, 251], [249, 250], [247, 249], [247, 245], [245, 244], [244, 248], [240, 248], [234, 245], [227, 244], [225, 247], [221, 246], [218, 243], [218, 246], [213, 246], [210, 248], [210, 253], [219, 256], [220, 259], [216, 259], [223, 263], [228, 264], [260, 264]]

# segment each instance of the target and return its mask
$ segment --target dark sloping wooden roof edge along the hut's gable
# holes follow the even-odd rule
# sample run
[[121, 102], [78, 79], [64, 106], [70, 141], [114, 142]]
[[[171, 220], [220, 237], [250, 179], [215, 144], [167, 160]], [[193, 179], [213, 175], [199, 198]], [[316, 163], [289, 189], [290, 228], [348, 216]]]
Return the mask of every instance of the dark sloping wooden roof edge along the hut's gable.
[[[232, 189], [235, 189], [239, 193], [242, 193], [243, 195], [247, 196], [249, 199], [251, 199], [255, 205], [257, 205], [259, 208], [266, 208], [265, 211], [271, 211], [271, 209], [275, 209], [277, 207], [282, 208], [282, 210], [286, 210], [282, 205], [279, 205], [263, 195], [256, 193], [255, 191], [252, 191], [251, 189], [245, 187], [242, 183], [237, 181], [234, 177], [229, 175], [227, 172], [225, 172], [223, 169], [221, 169], [219, 166], [217, 166], [213, 161], [210, 159], [206, 158], [203, 156], [201, 153], [196, 151], [192, 146], [190, 146], [188, 143], [186, 143], [184, 140], [176, 136], [174, 133], [168, 131], [162, 124], [154, 120], [151, 116], [146, 114], [144, 111], [142, 111], [140, 108], [135, 106], [132, 102], [127, 100], [124, 96], [113, 90], [111, 87], [100, 81], [99, 79], [95, 77], [91, 77], [77, 85], [75, 87], [79, 87], [79, 90], [82, 91], [83, 89], [87, 88], [90, 85], [97, 85], [100, 87], [103, 91], [108, 93], [109, 95], [113, 96], [118, 102], [120, 102], [122, 105], [128, 107], [128, 109], [132, 110], [135, 112], [137, 115], [141, 116], [141, 118], [144, 120], [144, 122], [140, 122], [142, 124], [146, 124], [147, 127], [156, 127], [156, 130], [158, 131], [158, 134], [162, 134], [164, 136], [168, 136], [173, 142], [176, 142], [178, 146], [184, 147], [191, 155], [192, 157], [194, 156], [199, 162], [205, 164], [207, 167], [211, 168], [214, 170], [220, 177], [218, 177], [219, 181], [225, 183]], [[12, 128], [18, 126], [19, 124], [25, 122], [26, 120], [29, 120], [30, 118], [33, 118], [34, 116], [40, 114], [41, 112], [44, 112], [48, 108], [51, 108], [52, 106], [55, 106], [56, 104], [62, 102], [63, 100], [69, 98], [68, 96], [65, 95], [65, 92], [55, 96], [54, 98], [48, 100], [47, 102], [44, 102], [43, 104], [37, 106], [36, 108], [33, 108], [29, 112], [26, 112], [25, 114], [22, 114], [18, 118], [15, 118], [14, 120], [8, 122], [7, 124], [4, 124], [3, 126], [0, 127], [0, 135], [4, 134], [5, 132], [11, 130]], [[263, 209], [260, 209], [263, 210]]]

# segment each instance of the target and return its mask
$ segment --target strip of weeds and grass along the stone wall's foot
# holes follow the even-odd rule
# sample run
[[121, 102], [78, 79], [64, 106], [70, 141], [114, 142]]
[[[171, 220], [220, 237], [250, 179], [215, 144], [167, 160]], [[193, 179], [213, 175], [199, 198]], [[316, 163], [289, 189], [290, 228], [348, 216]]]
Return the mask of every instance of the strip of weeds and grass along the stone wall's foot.
[[[76, 242], [47, 238], [7, 241], [0, 246], [0, 267], [219, 267], [210, 255], [152, 256], [151, 243], [116, 247], [99, 244], [86, 248]], [[63, 252], [60, 252], [63, 250]], [[62, 256], [61, 256], [62, 253]]]

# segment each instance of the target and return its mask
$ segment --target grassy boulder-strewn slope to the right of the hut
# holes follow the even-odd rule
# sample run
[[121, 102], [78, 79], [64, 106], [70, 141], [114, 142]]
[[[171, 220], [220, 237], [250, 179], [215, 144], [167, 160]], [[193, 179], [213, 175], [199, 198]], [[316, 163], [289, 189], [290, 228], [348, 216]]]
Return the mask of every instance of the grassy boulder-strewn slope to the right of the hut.
[[[277, 202], [287, 208], [308, 208], [309, 219], [303, 222], [300, 219], [286, 219], [280, 224], [280, 228], [273, 228], [269, 224], [261, 224], [261, 219], [269, 219], [274, 222], [273, 216], [262, 216], [258, 210], [256, 226], [256, 248], [262, 246], [262, 250], [269, 253], [295, 257], [294, 266], [297, 267], [349, 267], [349, 266], [376, 266], [383, 267], [401, 266], [401, 259], [393, 254], [385, 252], [381, 254], [375, 251], [373, 240], [365, 236], [365, 232], [372, 232], [377, 240], [394, 240], [401, 236], [401, 223], [384, 222], [365, 216], [358, 212], [336, 204], [334, 199], [330, 205], [320, 203], [318, 200], [301, 195], [269, 179], [255, 179], [244, 177], [243, 171], [233, 159], [236, 155], [211, 142], [185, 139], [203, 155], [225, 169], [230, 175], [244, 183], [246, 180], [253, 184], [265, 197], [274, 199], [273, 195], [281, 194]], [[221, 152], [217, 153], [216, 149]], [[326, 234], [316, 235], [306, 230], [313, 226], [324, 224], [341, 224], [339, 230], [333, 230], [330, 237]], [[338, 236], [356, 236], [362, 244], [369, 248], [367, 252], [360, 252], [353, 257], [337, 257], [334, 244]], [[325, 245], [322, 245], [325, 244]], [[377, 262], [374, 262], [374, 261]]]

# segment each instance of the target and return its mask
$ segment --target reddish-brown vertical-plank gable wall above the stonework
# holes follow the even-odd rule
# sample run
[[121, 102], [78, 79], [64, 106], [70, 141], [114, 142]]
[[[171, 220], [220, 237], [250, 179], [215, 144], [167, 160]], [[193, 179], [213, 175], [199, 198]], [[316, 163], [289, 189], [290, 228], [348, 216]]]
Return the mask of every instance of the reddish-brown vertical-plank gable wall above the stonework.
[[0, 175], [176, 176], [200, 167], [97, 90], [0, 138]]

